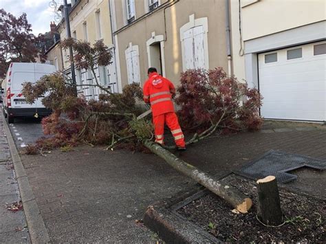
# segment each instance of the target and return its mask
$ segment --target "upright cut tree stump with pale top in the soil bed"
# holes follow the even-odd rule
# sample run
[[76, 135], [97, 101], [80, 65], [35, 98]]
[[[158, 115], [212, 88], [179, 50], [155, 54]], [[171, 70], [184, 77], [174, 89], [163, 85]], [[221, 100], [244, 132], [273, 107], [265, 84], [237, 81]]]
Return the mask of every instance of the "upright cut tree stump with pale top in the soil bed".
[[283, 223], [279, 188], [272, 175], [257, 181], [257, 217], [265, 225], [277, 226]]

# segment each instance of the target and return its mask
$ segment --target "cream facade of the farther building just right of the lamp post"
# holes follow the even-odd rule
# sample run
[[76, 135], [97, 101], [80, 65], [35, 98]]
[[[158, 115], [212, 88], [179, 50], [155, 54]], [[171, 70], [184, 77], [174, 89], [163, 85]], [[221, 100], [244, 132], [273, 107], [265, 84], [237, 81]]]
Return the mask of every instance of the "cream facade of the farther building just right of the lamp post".
[[[78, 41], [86, 41], [93, 45], [102, 40], [111, 52], [113, 58], [111, 65], [107, 67], [96, 66], [95, 72], [100, 84], [109, 87], [112, 92], [118, 92], [116, 76], [116, 63], [114, 58], [113, 36], [111, 34], [111, 21], [108, 0], [79, 0], [72, 1], [69, 10], [69, 21], [72, 38]], [[61, 40], [67, 38], [65, 20], [57, 27], [61, 34]], [[63, 49], [63, 69], [67, 76], [71, 76], [69, 49]], [[87, 100], [98, 99], [102, 92], [98, 87], [87, 85], [96, 84], [94, 75], [90, 70], [75, 69], [76, 83], [79, 85], [78, 94], [85, 96]], [[80, 85], [84, 85], [80, 87]]]

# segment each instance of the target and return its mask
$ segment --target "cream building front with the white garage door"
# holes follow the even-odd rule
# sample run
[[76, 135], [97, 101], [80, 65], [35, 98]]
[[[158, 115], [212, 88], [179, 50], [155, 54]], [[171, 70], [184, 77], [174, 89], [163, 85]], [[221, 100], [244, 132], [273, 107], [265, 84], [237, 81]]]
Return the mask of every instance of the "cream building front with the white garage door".
[[270, 119], [326, 120], [326, 2], [230, 1], [235, 76]]

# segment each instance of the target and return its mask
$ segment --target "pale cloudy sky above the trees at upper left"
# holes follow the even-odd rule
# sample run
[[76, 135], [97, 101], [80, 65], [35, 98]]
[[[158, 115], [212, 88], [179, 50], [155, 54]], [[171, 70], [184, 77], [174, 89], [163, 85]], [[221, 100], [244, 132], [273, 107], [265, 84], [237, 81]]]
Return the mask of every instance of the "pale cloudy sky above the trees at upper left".
[[54, 8], [50, 7], [52, 1], [58, 6], [63, 3], [63, 0], [0, 0], [0, 9], [3, 8], [14, 16], [20, 16], [25, 12], [28, 23], [32, 25], [33, 34], [37, 36], [39, 33], [50, 31], [51, 21], [58, 23]]

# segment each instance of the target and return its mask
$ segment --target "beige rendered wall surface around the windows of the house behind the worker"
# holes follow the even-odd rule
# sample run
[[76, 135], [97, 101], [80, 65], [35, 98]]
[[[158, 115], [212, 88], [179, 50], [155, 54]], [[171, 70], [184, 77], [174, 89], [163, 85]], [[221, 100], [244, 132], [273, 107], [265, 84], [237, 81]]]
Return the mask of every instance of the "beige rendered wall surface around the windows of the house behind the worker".
[[[145, 0], [146, 1], [146, 0]], [[122, 87], [127, 85], [127, 63], [125, 50], [129, 46], [138, 45], [140, 78], [142, 83], [147, 78], [146, 71], [149, 67], [147, 57], [146, 41], [148, 41], [152, 32], [155, 35], [164, 36], [164, 63], [166, 77], [175, 85], [180, 83], [180, 73], [182, 72], [182, 43], [180, 41], [180, 27], [189, 22], [189, 16], [195, 15], [195, 19], [208, 18], [208, 56], [209, 68], [224, 67], [228, 68], [226, 56], [226, 24], [225, 24], [225, 1], [220, 0], [181, 0], [165, 10], [166, 30], [164, 27], [164, 10], [157, 10], [146, 18], [137, 22], [137, 8], [145, 9], [144, 1], [136, 0], [135, 15], [136, 21], [124, 30], [119, 31], [119, 27], [124, 26], [122, 1], [115, 1], [116, 10], [116, 32], [118, 40], [118, 51], [120, 58], [120, 71]], [[165, 1], [161, 0], [161, 3]], [[141, 12], [140, 12], [141, 13]]]

